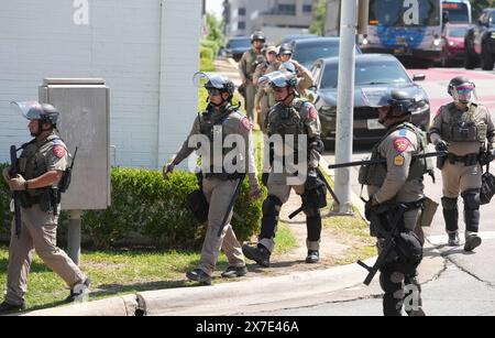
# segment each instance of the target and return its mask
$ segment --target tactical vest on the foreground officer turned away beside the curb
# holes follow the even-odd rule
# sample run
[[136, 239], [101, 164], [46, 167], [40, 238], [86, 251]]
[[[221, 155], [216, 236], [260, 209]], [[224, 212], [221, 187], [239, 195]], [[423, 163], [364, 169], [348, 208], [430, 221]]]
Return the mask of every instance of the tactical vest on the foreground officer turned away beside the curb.
[[[426, 133], [416, 128], [415, 126], [413, 126], [411, 123], [405, 122], [389, 130], [387, 134], [382, 139], [382, 141], [380, 141], [377, 144], [375, 144], [375, 146], [373, 146], [371, 160], [383, 159], [378, 151], [380, 145], [386, 138], [388, 138], [388, 135], [400, 129], [407, 129], [416, 134], [416, 138], [418, 139], [419, 150], [416, 153], [414, 153], [414, 155], [426, 153], [428, 149], [428, 139]], [[431, 173], [432, 171], [433, 171], [433, 162], [431, 161], [431, 159], [413, 160], [407, 182], [422, 178], [425, 174]], [[373, 185], [381, 187], [384, 184], [386, 176], [387, 176], [387, 165], [385, 163], [363, 165], [360, 168], [359, 182], [362, 185]]]

